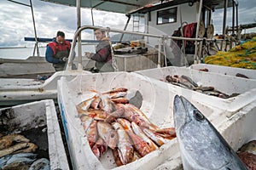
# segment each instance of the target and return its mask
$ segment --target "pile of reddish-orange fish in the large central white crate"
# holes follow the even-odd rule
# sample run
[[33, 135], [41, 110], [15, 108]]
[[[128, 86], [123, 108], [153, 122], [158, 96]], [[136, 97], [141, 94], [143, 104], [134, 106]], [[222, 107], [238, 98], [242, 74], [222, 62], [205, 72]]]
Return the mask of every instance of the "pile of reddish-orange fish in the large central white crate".
[[112, 150], [122, 166], [157, 150], [176, 137], [174, 127], [160, 128], [148, 120], [127, 97], [127, 88], [96, 93], [76, 105], [90, 148], [99, 159]]

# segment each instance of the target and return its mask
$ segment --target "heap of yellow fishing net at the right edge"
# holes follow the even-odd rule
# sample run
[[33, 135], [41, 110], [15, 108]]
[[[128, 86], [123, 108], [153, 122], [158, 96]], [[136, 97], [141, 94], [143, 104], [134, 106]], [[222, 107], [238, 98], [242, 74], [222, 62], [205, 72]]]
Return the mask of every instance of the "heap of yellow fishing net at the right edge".
[[218, 51], [215, 55], [205, 57], [203, 61], [205, 64], [256, 70], [256, 37], [231, 48], [228, 52]]

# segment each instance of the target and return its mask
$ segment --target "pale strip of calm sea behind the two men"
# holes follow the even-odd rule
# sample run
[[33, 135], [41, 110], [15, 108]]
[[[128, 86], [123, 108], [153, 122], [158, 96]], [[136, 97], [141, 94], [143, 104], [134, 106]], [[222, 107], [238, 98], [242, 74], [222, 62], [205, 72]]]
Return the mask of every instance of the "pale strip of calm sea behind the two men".
[[[33, 47], [21, 47], [21, 48], [0, 48], [0, 59], [26, 59], [33, 55]], [[39, 48], [39, 56], [45, 55], [45, 47]], [[94, 45], [82, 46], [82, 54], [84, 52], [95, 52]], [[76, 54], [78, 50], [76, 49]], [[36, 51], [35, 56], [38, 56]]]

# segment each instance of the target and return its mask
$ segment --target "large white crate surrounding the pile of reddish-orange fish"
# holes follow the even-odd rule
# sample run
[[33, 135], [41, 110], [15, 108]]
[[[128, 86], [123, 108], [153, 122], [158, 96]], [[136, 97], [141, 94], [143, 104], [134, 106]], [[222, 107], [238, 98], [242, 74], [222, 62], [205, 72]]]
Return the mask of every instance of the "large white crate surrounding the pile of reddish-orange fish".
[[[81, 125], [76, 105], [92, 97], [90, 90], [106, 92], [112, 88], [137, 89], [143, 95], [141, 111], [148, 119], [159, 127], [174, 127], [172, 119], [173, 99], [175, 92], [168, 89], [166, 83], [142, 77], [136, 73], [113, 72], [93, 75], [81, 75], [72, 81], [62, 77], [58, 81], [58, 102], [61, 108], [62, 122], [67, 137], [67, 144], [74, 169], [154, 169], [168, 159], [174, 163], [169, 169], [181, 166], [178, 156], [177, 139], [163, 144], [147, 156], [127, 165], [116, 167], [112, 152], [108, 152], [98, 160], [90, 150], [84, 129]], [[183, 94], [183, 93], [181, 93]], [[218, 108], [202, 105], [196, 100], [191, 102], [205, 113], [209, 120], [216, 124], [215, 117], [226, 120], [226, 115]], [[223, 114], [222, 114], [223, 113]]]

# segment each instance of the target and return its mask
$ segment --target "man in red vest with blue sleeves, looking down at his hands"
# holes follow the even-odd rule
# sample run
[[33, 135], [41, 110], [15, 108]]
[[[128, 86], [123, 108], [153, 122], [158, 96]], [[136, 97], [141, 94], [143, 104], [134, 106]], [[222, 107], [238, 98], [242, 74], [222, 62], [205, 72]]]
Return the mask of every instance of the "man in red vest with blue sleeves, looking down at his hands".
[[57, 31], [56, 37], [49, 42], [45, 52], [45, 59], [52, 63], [55, 71], [63, 71], [70, 52], [71, 44], [65, 40], [65, 33]]

